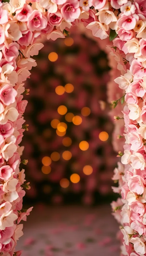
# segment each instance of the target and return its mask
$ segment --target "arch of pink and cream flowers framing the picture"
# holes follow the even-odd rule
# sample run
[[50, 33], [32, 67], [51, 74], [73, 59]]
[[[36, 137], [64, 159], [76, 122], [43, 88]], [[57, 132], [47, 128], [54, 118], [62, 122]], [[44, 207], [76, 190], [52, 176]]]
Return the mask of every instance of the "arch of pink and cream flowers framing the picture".
[[[122, 164], [118, 164], [113, 177], [118, 182], [114, 192], [122, 198], [113, 202], [112, 208], [121, 225], [121, 254], [145, 255], [145, 0], [10, 0], [0, 3], [0, 14], [1, 255], [21, 255], [20, 251], [15, 252], [17, 240], [23, 234], [23, 225], [19, 223], [32, 210], [23, 209], [25, 189], [30, 186], [25, 182], [24, 169], [19, 171], [20, 162], [27, 164], [26, 160], [20, 160], [24, 148], [19, 147], [23, 132], [28, 129], [23, 118], [27, 102], [22, 99], [29, 92], [23, 82], [30, 76], [29, 70], [37, 65], [32, 57], [43, 47], [43, 38], [65, 38], [68, 29], [80, 23], [94, 37], [112, 42], [106, 47], [114, 80], [109, 83], [108, 93], [110, 96], [118, 84], [121, 95], [109, 101], [113, 119], [125, 122], [124, 152], [118, 152]], [[116, 95], [117, 87], [114, 92]], [[121, 122], [118, 129], [122, 125]]]

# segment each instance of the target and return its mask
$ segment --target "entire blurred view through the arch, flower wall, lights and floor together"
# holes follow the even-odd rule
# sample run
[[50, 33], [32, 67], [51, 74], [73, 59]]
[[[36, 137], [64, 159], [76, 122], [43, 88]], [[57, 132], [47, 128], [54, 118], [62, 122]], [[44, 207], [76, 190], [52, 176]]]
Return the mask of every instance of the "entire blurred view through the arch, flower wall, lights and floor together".
[[109, 203], [117, 153], [111, 144], [107, 56], [97, 42], [72, 31], [44, 43], [25, 83], [23, 159], [28, 159], [23, 256], [118, 255]]

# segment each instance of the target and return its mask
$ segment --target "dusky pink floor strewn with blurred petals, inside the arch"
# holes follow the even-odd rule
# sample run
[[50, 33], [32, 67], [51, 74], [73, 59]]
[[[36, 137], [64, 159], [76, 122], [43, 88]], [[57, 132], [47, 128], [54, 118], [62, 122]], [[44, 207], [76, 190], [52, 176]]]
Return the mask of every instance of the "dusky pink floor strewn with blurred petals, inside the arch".
[[109, 205], [36, 207], [24, 222], [22, 256], [118, 256], [118, 224]]

